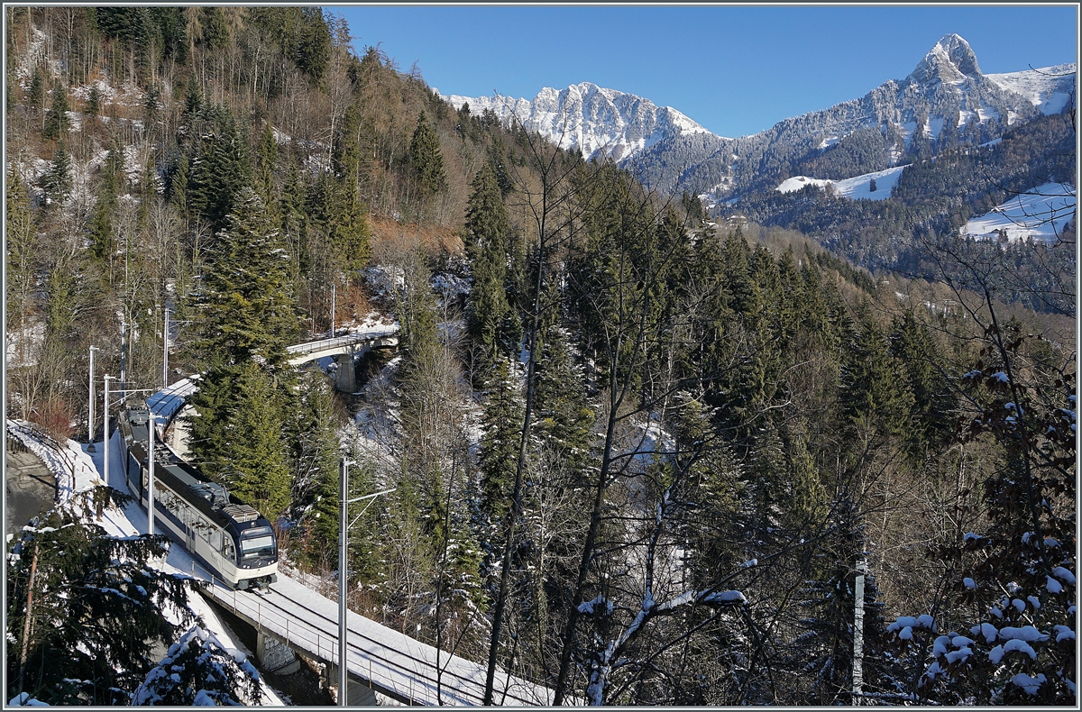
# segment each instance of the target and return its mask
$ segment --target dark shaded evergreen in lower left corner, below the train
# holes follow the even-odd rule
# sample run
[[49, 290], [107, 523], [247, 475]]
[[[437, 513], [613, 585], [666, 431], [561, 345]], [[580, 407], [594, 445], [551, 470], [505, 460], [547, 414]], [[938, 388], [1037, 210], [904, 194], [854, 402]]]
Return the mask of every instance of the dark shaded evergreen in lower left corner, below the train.
[[155, 642], [175, 640], [170, 619], [192, 620], [186, 577], [149, 565], [166, 555], [164, 537], [110, 537], [94, 524], [129, 501], [96, 488], [16, 536], [5, 577], [8, 699], [128, 704]]

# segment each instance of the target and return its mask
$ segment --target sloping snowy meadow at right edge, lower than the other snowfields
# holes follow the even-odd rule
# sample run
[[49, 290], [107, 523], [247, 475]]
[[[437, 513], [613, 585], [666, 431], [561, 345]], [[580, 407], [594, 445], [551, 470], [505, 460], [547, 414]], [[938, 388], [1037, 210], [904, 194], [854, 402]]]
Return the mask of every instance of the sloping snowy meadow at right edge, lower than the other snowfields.
[[1014, 196], [991, 212], [972, 217], [962, 228], [963, 235], [995, 239], [1005, 235], [1016, 242], [1055, 241], [1064, 227], [1074, 220], [1076, 190], [1061, 183], [1045, 183], [1028, 193]]

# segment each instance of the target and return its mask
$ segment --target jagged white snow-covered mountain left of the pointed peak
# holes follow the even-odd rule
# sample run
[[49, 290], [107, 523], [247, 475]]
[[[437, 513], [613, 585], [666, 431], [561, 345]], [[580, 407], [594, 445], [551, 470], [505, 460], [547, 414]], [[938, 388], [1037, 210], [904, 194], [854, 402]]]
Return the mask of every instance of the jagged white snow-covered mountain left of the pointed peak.
[[588, 81], [564, 90], [545, 87], [532, 101], [501, 94], [446, 98], [456, 109], [469, 104], [473, 115], [491, 110], [505, 123], [517, 119], [562, 148], [578, 148], [586, 159], [621, 161], [668, 136], [710, 133], [670, 106]]

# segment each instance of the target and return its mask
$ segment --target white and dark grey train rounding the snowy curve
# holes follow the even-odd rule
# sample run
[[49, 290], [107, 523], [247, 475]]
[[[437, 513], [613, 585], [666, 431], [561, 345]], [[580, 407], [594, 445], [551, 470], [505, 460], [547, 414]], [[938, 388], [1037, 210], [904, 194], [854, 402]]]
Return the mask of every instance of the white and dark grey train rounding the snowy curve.
[[[146, 403], [121, 410], [124, 479], [148, 510], [150, 411]], [[210, 480], [159, 438], [154, 443], [155, 523], [217, 581], [237, 590], [266, 589], [278, 580], [274, 527], [250, 504]]]

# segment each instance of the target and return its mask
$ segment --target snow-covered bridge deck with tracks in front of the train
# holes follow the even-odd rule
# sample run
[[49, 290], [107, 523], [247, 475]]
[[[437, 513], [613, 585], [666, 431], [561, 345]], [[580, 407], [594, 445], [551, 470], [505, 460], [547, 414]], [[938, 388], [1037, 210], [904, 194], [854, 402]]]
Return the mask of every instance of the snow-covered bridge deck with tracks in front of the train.
[[[338, 667], [338, 603], [281, 573], [267, 592], [235, 591], [217, 581], [208, 582], [204, 591], [261, 635], [272, 635], [308, 657]], [[352, 678], [407, 704], [481, 703], [485, 665], [438, 650], [353, 611], [347, 627], [346, 664]], [[552, 690], [498, 671], [493, 702], [547, 706]]]

